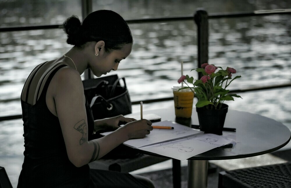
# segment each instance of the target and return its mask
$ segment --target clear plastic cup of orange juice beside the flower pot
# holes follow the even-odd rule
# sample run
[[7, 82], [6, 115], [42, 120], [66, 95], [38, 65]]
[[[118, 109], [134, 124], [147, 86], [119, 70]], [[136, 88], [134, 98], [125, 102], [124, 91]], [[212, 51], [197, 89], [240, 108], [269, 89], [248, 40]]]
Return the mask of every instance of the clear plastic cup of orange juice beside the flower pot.
[[173, 86], [176, 117], [190, 118], [192, 115], [194, 93], [191, 89], [181, 89], [181, 85]]

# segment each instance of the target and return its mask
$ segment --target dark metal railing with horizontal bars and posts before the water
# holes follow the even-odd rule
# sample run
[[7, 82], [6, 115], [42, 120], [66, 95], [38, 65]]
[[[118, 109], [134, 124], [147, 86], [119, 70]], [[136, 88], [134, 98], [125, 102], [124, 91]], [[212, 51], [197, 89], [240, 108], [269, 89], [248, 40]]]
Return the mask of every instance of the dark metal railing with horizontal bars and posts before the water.
[[[86, 17], [90, 12], [92, 12], [92, 0], [82, 0], [82, 16]], [[291, 14], [291, 9], [279, 9], [279, 10], [261, 10], [254, 12], [239, 12], [239, 13], [225, 13], [225, 14], [210, 14], [208, 15], [205, 10], [197, 10], [194, 16], [183, 16], [183, 17], [160, 17], [160, 18], [147, 18], [147, 19], [132, 19], [126, 20], [128, 24], [141, 24], [141, 23], [157, 23], [157, 22], [173, 22], [173, 21], [186, 21], [194, 20], [197, 25], [197, 46], [198, 46], [198, 67], [202, 63], [208, 62], [208, 37], [209, 19], [219, 19], [219, 18], [237, 18], [237, 17], [250, 17], [250, 16], [265, 16], [272, 14]], [[17, 27], [0, 27], [0, 32], [11, 32], [11, 31], [25, 31], [25, 30], [37, 30], [37, 29], [56, 29], [63, 28], [63, 25], [41, 25], [41, 26], [17, 26]], [[92, 75], [90, 71], [85, 74], [85, 79], [91, 78]], [[201, 75], [198, 74], [198, 78]], [[291, 83], [281, 84], [281, 85], [269, 85], [265, 87], [253, 87], [247, 89], [237, 89], [231, 90], [233, 93], [258, 91], [264, 89], [276, 89], [283, 87], [290, 87]], [[173, 100], [173, 97], [160, 98], [160, 99], [149, 99], [143, 100], [143, 103], [153, 103]], [[133, 105], [139, 104], [140, 101], [132, 102]], [[20, 119], [22, 115], [12, 115], [0, 117], [0, 121]]]

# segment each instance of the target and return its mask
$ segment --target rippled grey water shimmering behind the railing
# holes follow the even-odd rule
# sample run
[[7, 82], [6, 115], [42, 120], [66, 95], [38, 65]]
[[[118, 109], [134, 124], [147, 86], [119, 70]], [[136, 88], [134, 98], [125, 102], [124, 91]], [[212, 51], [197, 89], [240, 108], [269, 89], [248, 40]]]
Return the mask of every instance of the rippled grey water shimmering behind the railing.
[[[77, 6], [68, 1], [54, 1], [41, 16], [35, 3], [35, 12], [23, 12], [31, 6], [18, 5], [20, 1], [0, 1], [0, 24], [61, 24]], [[49, 1], [45, 1], [49, 3]], [[179, 3], [177, 3], [179, 2]], [[224, 3], [223, 3], [224, 2]], [[54, 8], [60, 4], [63, 14]], [[77, 5], [79, 1], [76, 1]], [[75, 4], [76, 4], [75, 3]], [[20, 3], [21, 4], [21, 3]], [[74, 3], [72, 3], [74, 4]], [[223, 6], [219, 6], [223, 4]], [[94, 10], [107, 8], [119, 12], [125, 19], [193, 15], [198, 7], [213, 12], [240, 12], [260, 9], [290, 8], [290, 1], [98, 1]], [[16, 7], [16, 8], [15, 8]], [[24, 9], [26, 7], [26, 9]], [[33, 6], [32, 6], [33, 7]], [[144, 7], [144, 8], [141, 8]], [[69, 8], [71, 8], [69, 11]], [[57, 9], [57, 8], [56, 8]], [[12, 13], [11, 13], [12, 12]], [[14, 12], [14, 14], [13, 14]], [[35, 15], [33, 15], [33, 13]], [[31, 14], [31, 15], [29, 15]], [[31, 18], [28, 18], [28, 17]], [[34, 16], [34, 17], [33, 17]], [[291, 81], [291, 15], [269, 15], [247, 18], [210, 20], [209, 62], [221, 67], [234, 67], [237, 79], [230, 89], [276, 85]], [[172, 96], [171, 86], [180, 77], [180, 61], [184, 74], [197, 67], [196, 25], [193, 21], [130, 24], [134, 37], [132, 53], [118, 67], [119, 77], [126, 78], [132, 101]], [[71, 46], [65, 43], [61, 29], [17, 31], [0, 33], [0, 116], [21, 114], [20, 93], [32, 69], [41, 62], [58, 58]], [[196, 77], [197, 78], [197, 77]], [[291, 90], [263, 90], [240, 94], [243, 99], [229, 102], [231, 109], [261, 114], [282, 122], [291, 128]], [[173, 106], [172, 101], [145, 104], [150, 110]], [[138, 111], [134, 106], [133, 111]], [[22, 120], [0, 122], [0, 166], [8, 166], [9, 177], [16, 187], [23, 158]], [[13, 169], [13, 170], [11, 170]]]

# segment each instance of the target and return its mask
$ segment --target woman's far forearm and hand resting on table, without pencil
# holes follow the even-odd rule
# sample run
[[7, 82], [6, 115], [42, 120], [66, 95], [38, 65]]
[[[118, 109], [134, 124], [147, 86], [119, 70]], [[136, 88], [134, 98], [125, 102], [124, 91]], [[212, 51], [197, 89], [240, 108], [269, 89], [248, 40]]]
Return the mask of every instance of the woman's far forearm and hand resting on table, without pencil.
[[126, 118], [123, 115], [96, 120], [94, 123], [94, 132], [99, 130], [114, 131], [120, 127], [119, 125], [132, 121], [136, 121], [136, 119]]

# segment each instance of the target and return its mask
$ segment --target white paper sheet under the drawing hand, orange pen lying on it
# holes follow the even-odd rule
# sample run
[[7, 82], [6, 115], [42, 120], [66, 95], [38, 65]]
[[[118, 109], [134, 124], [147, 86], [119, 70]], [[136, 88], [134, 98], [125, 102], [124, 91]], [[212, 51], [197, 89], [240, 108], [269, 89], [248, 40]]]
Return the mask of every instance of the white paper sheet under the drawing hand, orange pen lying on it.
[[[148, 146], [151, 144], [156, 144], [160, 142], [165, 142], [169, 140], [181, 139], [184, 137], [189, 137], [195, 134], [203, 134], [202, 131], [187, 127], [172, 121], [159, 121], [152, 123], [155, 126], [170, 126], [174, 129], [153, 129], [149, 135], [146, 135], [141, 139], [130, 139], [123, 144], [131, 146], [134, 148], [139, 148], [142, 146]], [[101, 133], [102, 135], [108, 135], [112, 132]]]

